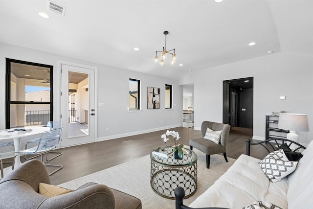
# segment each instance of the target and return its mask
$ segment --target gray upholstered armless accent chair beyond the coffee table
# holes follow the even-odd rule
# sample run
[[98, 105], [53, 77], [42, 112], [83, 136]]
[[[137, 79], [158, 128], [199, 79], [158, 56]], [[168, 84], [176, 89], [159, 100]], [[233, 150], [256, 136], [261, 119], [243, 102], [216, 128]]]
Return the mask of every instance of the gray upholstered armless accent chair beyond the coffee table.
[[[204, 139], [207, 128], [210, 128], [214, 131], [222, 130], [221, 140], [219, 144], [208, 139]], [[202, 138], [193, 138], [189, 140], [191, 150], [193, 147], [195, 147], [196, 149], [206, 154], [206, 168], [210, 168], [210, 155], [213, 154], [223, 153], [225, 161], [228, 162], [226, 157], [226, 144], [228, 140], [229, 131], [230, 125], [228, 124], [203, 121], [201, 124]]]

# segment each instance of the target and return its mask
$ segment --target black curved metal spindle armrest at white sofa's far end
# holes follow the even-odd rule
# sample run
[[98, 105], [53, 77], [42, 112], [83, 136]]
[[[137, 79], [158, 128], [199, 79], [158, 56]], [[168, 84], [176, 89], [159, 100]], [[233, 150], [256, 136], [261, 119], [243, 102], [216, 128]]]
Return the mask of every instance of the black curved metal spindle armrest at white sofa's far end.
[[[270, 143], [268, 143], [270, 142]], [[280, 142], [280, 143], [279, 143]], [[265, 146], [264, 143], [266, 144], [269, 144], [269, 146]], [[272, 152], [272, 151], [275, 151], [275, 146], [280, 146], [282, 145], [283, 143], [287, 143], [287, 145], [290, 147], [291, 144], [295, 145], [296, 148], [293, 150], [294, 152], [303, 148], [303, 149], [306, 149], [305, 146], [295, 142], [295, 141], [292, 141], [290, 139], [280, 139], [280, 138], [271, 138], [271, 139], [267, 139], [267, 140], [264, 140], [264, 141], [259, 141], [259, 142], [256, 142], [256, 143], [251, 143], [251, 139], [246, 139], [246, 155], [250, 155], [250, 145], [262, 145], [267, 151], [268, 153]], [[270, 151], [272, 149], [272, 151]]]

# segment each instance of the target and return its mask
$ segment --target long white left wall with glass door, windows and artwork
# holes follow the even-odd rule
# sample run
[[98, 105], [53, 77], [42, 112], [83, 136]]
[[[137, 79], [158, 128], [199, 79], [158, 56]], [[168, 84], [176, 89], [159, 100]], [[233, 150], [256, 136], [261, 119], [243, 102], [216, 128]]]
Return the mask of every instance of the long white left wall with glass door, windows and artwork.
[[[52, 65], [54, 74], [54, 119], [60, 119], [60, 69], [58, 61], [98, 68], [98, 139], [112, 139], [147, 131], [177, 127], [182, 124], [182, 88], [178, 80], [116, 69], [98, 63], [0, 43], [0, 129], [5, 128], [5, 58]], [[153, 63], [152, 63], [153, 64]], [[128, 111], [129, 78], [141, 80], [141, 109]], [[165, 84], [173, 86], [173, 109], [165, 110]], [[160, 88], [160, 109], [147, 109], [147, 87]], [[67, 108], [67, 107], [66, 107]], [[163, 123], [162, 123], [163, 122]], [[106, 131], [109, 128], [109, 131]]]

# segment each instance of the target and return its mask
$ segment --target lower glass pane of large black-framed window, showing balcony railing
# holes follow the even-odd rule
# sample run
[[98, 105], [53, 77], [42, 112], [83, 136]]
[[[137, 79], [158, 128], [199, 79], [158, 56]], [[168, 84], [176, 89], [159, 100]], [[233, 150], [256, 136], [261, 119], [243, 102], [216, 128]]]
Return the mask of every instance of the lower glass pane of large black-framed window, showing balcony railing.
[[50, 120], [50, 104], [11, 104], [10, 128], [46, 126]]

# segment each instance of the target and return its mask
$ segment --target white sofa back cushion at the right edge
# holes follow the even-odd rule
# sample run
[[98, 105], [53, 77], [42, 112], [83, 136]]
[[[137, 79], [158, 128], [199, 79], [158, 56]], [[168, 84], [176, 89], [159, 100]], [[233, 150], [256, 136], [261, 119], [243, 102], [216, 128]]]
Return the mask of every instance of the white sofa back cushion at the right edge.
[[288, 208], [309, 209], [313, 206], [313, 141], [302, 152], [297, 169], [288, 176]]

